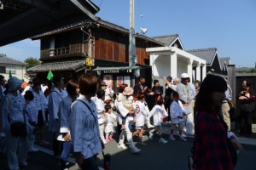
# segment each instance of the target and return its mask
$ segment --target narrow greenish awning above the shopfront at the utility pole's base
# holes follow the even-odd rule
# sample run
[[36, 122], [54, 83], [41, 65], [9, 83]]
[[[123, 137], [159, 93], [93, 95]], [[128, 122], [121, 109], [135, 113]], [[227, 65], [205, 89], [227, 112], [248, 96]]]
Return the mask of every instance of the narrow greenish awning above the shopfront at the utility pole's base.
[[104, 73], [119, 73], [119, 71], [137, 71], [140, 66], [120, 66], [120, 67], [96, 67], [92, 71], [103, 71]]

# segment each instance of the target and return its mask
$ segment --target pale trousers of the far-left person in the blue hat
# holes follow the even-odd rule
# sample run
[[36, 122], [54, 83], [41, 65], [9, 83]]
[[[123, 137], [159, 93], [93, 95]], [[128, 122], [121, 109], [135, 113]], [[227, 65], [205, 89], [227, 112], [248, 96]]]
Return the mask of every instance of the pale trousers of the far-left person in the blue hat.
[[6, 156], [8, 167], [11, 170], [17, 170], [19, 163], [26, 162], [28, 152], [28, 139], [27, 137], [15, 137], [11, 134], [10, 130], [5, 130], [6, 135]]

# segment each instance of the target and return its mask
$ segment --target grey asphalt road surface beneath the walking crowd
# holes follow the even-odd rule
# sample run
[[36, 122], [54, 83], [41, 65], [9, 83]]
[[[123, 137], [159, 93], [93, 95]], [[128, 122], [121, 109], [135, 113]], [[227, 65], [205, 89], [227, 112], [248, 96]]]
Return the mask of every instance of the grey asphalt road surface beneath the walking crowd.
[[[167, 132], [166, 127], [166, 132]], [[146, 133], [147, 134], [147, 133]], [[51, 141], [51, 135], [47, 135]], [[105, 153], [111, 154], [112, 170], [166, 170], [166, 169], [181, 169], [187, 170], [188, 156], [192, 146], [192, 139], [187, 142], [183, 141], [169, 141], [167, 144], [158, 143], [158, 139], [148, 139], [146, 136], [144, 141], [147, 145], [137, 147], [142, 151], [134, 155], [130, 150], [121, 150], [117, 148], [118, 135], [114, 136], [114, 140], [106, 144]], [[167, 139], [168, 136], [164, 135]], [[253, 139], [252, 141], [256, 141]], [[256, 144], [256, 142], [254, 142]], [[21, 170], [57, 170], [58, 166], [51, 151], [50, 144], [48, 146], [38, 145], [40, 151], [36, 153], [29, 153], [29, 160], [27, 167], [21, 167]], [[253, 144], [243, 144], [244, 152], [239, 154], [236, 170], [255, 170], [256, 169], [256, 146]], [[70, 157], [69, 170], [78, 169], [74, 166], [74, 159]], [[103, 167], [102, 153], [98, 155], [98, 165]], [[0, 169], [8, 169], [6, 164], [6, 157], [0, 154]]]

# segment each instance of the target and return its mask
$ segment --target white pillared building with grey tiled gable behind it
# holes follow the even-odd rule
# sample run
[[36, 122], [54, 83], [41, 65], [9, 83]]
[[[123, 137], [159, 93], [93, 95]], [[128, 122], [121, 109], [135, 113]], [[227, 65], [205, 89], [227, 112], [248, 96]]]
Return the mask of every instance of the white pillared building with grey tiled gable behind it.
[[166, 47], [146, 49], [150, 53], [153, 79], [167, 76], [180, 78], [183, 72], [188, 73], [191, 80], [202, 81], [206, 77], [206, 60], [184, 51], [178, 35], [153, 38], [166, 45]]

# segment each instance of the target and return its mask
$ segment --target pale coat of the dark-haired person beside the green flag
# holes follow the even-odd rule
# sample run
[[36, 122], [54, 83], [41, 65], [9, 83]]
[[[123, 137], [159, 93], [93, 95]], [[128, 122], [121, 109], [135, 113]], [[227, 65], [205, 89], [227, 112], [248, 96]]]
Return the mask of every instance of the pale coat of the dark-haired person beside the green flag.
[[61, 100], [65, 98], [66, 94], [64, 94], [63, 90], [59, 90], [58, 88], [54, 88], [54, 90], [49, 94], [48, 100], [48, 109], [49, 109], [49, 131], [56, 132], [57, 131], [57, 119], [58, 110], [61, 103]]

